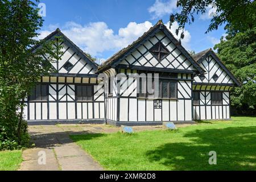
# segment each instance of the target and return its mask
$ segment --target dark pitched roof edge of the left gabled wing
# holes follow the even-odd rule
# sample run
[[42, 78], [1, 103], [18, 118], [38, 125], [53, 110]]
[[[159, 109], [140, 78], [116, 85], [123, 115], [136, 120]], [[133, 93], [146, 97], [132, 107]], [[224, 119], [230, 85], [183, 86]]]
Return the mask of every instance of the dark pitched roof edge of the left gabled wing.
[[[60, 31], [59, 28], [57, 28], [55, 31], [53, 31], [51, 34], [49, 34], [46, 38], [42, 39], [42, 41], [53, 40], [53, 39], [55, 39], [56, 36], [61, 36], [64, 43], [68, 44], [69, 47], [73, 48], [74, 51], [80, 57], [82, 57], [82, 59], [84, 59], [86, 61], [86, 63], [88, 63], [89, 65], [92, 66], [92, 68], [94, 68], [94, 69], [98, 68], [98, 64], [94, 63], [94, 61], [92, 59], [90, 59], [90, 57], [88, 57], [84, 51], [82, 51], [79, 47], [77, 47], [76, 44], [73, 43], [67, 36], [65, 36], [63, 34], [63, 32]], [[32, 47], [32, 50], [35, 50], [35, 49], [39, 48], [40, 46], [41, 46], [40, 44], [35, 45], [34, 47]]]

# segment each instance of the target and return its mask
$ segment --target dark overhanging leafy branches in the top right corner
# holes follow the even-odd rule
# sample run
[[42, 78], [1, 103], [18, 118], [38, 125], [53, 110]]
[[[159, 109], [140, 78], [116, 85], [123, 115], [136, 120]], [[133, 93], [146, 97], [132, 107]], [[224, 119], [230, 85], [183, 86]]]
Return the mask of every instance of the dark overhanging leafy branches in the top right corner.
[[214, 8], [216, 12], [212, 14], [207, 32], [226, 23], [238, 31], [246, 31], [256, 25], [256, 2], [251, 0], [178, 0], [177, 7], [181, 7], [180, 13], [170, 15], [170, 26], [175, 21], [179, 24], [177, 35], [184, 30], [185, 24], [194, 22], [195, 14], [205, 14], [208, 8]]

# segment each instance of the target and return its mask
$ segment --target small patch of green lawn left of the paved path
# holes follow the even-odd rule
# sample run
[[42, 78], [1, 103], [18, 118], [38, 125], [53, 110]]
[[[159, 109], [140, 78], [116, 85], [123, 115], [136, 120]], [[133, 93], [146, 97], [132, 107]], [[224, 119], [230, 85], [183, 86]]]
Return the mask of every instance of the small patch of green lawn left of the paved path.
[[22, 163], [22, 151], [0, 151], [0, 171], [16, 171]]

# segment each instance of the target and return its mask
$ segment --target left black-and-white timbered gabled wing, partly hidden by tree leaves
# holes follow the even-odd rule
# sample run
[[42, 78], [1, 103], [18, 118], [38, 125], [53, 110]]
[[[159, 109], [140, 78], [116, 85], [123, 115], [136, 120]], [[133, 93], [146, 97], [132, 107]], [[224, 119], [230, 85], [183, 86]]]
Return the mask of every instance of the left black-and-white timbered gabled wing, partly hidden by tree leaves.
[[101, 123], [105, 118], [105, 105], [104, 86], [98, 86], [100, 81], [96, 75], [98, 65], [59, 29], [48, 35], [46, 40], [56, 36], [63, 40], [61, 60], [52, 64], [56, 73], [41, 77], [27, 98], [24, 117], [36, 123], [90, 119]]

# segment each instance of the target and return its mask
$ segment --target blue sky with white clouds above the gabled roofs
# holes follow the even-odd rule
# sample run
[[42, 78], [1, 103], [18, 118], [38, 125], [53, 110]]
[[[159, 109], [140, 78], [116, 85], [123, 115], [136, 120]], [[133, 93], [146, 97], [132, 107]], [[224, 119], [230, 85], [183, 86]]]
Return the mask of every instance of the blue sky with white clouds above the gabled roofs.
[[[176, 0], [42, 0], [46, 5], [44, 38], [57, 27], [83, 51], [98, 59], [108, 59], [132, 43], [159, 19], [168, 23], [175, 13]], [[204, 34], [210, 23], [211, 7], [185, 27], [183, 46], [196, 52], [213, 47], [225, 34], [224, 28]], [[171, 32], [174, 33], [175, 26]]]

